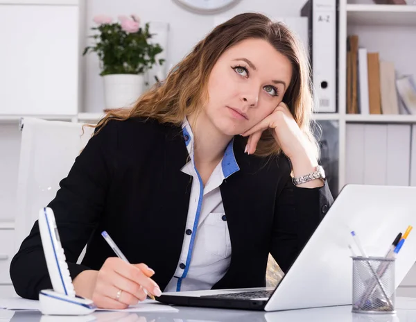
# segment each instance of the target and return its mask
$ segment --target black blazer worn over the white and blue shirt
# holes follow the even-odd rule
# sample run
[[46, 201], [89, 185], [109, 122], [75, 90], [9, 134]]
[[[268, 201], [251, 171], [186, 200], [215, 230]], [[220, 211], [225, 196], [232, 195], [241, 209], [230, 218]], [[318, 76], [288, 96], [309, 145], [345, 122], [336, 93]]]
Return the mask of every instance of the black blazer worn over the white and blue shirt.
[[[284, 155], [244, 153], [235, 137], [240, 171], [220, 185], [232, 244], [225, 276], [213, 289], [265, 286], [270, 252], [287, 271], [333, 202], [328, 185], [294, 187]], [[114, 257], [101, 232], [107, 230], [132, 263], [155, 270], [163, 290], [182, 249], [192, 177], [180, 171], [188, 158], [182, 129], [157, 121], [110, 121], [76, 158], [49, 207], [55, 213], [71, 278], [99, 270]], [[87, 244], [82, 264], [76, 264]], [[51, 288], [39, 226], [10, 264], [19, 296], [38, 298]]]

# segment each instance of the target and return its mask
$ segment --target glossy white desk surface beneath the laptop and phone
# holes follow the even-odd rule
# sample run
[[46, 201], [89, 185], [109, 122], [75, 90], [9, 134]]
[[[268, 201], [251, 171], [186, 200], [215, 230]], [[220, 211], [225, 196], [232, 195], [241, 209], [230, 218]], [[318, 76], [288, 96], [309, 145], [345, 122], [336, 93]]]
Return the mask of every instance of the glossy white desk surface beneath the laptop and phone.
[[[96, 312], [89, 321], [105, 322], [415, 322], [416, 298], [397, 298], [397, 314], [353, 314], [351, 306], [323, 307], [318, 309], [284, 312], [254, 312], [220, 310], [198, 307], [177, 307], [175, 313]], [[95, 320], [94, 320], [95, 318]], [[40, 312], [10, 312], [0, 310], [0, 322], [81, 322], [86, 316], [42, 316]]]

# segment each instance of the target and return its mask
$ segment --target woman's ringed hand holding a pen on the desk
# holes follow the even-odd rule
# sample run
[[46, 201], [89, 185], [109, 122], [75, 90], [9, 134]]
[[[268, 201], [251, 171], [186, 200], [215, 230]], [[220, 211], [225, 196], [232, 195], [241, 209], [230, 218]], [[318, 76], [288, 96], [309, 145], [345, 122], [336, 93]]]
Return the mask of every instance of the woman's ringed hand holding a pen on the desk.
[[109, 257], [99, 271], [78, 274], [73, 286], [77, 295], [92, 299], [98, 307], [121, 310], [145, 300], [145, 289], [155, 296], [162, 294], [150, 278], [154, 273], [146, 264], [128, 264], [118, 257]]

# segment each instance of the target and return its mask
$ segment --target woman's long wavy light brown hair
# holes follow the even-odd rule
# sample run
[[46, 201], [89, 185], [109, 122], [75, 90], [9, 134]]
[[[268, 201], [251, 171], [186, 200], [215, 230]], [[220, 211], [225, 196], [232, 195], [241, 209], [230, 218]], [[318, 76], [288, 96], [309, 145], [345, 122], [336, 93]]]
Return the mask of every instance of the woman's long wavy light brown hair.
[[[110, 119], [124, 121], [132, 117], [157, 119], [159, 123], [180, 126], [185, 116], [200, 112], [208, 101], [207, 83], [218, 58], [230, 47], [249, 38], [266, 40], [290, 60], [292, 79], [283, 101], [304, 135], [313, 143], [318, 157], [318, 144], [311, 130], [311, 70], [304, 46], [285, 24], [272, 22], [259, 13], [236, 15], [216, 26], [171, 69], [166, 80], [142, 94], [132, 108], [110, 110], [93, 127], [101, 128]], [[271, 132], [264, 131], [255, 154], [269, 156], [280, 151]]]

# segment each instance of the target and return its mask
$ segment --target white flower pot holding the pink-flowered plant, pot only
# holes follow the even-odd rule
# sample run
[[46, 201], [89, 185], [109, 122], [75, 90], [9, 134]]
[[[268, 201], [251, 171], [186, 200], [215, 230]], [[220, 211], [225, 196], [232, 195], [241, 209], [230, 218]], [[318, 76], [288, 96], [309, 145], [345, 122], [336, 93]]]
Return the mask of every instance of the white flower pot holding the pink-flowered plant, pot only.
[[103, 76], [105, 108], [129, 108], [143, 93], [143, 75], [112, 74]]

